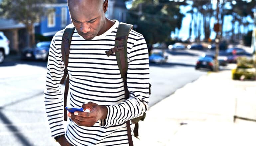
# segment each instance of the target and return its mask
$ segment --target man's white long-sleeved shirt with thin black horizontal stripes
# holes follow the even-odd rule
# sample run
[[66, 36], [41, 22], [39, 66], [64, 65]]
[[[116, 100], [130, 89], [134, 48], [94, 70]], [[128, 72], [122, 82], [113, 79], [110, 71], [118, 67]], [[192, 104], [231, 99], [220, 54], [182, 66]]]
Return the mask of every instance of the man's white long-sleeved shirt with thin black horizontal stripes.
[[[64, 30], [52, 39], [47, 65], [45, 108], [52, 137], [65, 134], [73, 145], [128, 145], [125, 121], [141, 116], [148, 109], [149, 62], [144, 37], [131, 30], [127, 43], [127, 86], [130, 93], [125, 99], [124, 83], [115, 54], [105, 51], [114, 47], [119, 22], [102, 35], [85, 40], [77, 34], [72, 36], [69, 54], [70, 105], [81, 107], [94, 102], [105, 105], [107, 118], [99, 120], [92, 127], [79, 126], [68, 119], [67, 130], [63, 124], [63, 98], [60, 80], [64, 74], [61, 57], [61, 40]], [[131, 123], [131, 122], [130, 122]], [[131, 130], [133, 130], [131, 124]], [[133, 132], [132, 132], [133, 133]]]

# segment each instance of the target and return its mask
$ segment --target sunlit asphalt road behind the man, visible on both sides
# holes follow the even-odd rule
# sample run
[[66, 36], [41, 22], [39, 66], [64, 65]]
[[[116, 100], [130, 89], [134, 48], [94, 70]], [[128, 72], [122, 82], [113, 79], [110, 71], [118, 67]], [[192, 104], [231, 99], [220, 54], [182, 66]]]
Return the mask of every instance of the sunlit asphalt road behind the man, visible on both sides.
[[[202, 52], [168, 53], [166, 64], [150, 64], [150, 106], [207, 73], [194, 69]], [[50, 137], [44, 107], [46, 65], [43, 61], [21, 61], [13, 56], [0, 64], [1, 146], [57, 145]]]

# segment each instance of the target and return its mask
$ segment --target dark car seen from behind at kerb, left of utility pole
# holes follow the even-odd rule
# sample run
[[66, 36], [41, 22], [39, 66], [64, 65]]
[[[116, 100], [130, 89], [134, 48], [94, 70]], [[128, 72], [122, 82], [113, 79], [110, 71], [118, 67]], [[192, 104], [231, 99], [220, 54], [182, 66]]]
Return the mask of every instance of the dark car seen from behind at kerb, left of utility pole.
[[210, 56], [200, 57], [196, 62], [195, 69], [200, 69], [200, 68], [209, 69], [213, 71], [214, 59]]

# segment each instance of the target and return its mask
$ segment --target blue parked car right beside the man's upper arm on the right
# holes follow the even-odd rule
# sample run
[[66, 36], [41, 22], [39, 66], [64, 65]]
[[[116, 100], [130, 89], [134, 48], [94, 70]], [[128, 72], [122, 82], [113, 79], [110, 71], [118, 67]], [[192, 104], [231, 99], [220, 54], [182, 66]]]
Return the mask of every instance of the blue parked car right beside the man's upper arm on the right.
[[166, 55], [165, 51], [162, 50], [152, 50], [151, 55], [149, 56], [149, 62], [154, 63], [166, 63], [168, 56]]

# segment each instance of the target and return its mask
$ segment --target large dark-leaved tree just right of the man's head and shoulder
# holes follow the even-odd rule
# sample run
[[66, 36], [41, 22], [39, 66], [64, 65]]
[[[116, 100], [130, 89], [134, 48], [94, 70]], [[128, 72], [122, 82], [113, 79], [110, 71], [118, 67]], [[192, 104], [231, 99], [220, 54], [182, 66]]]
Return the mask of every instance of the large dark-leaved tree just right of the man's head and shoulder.
[[180, 13], [180, 5], [187, 4], [169, 0], [134, 0], [128, 23], [136, 24], [134, 29], [144, 35], [149, 45], [163, 42], [170, 38], [171, 31], [181, 28], [184, 15]]

